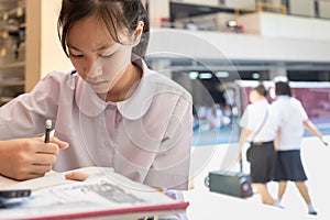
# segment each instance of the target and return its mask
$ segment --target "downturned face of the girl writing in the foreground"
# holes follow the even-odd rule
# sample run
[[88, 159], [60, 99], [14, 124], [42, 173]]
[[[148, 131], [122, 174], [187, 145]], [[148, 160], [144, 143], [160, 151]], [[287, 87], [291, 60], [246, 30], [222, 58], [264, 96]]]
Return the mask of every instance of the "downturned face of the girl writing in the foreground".
[[97, 94], [107, 94], [131, 63], [133, 45], [116, 43], [95, 16], [78, 21], [67, 35], [69, 58]]

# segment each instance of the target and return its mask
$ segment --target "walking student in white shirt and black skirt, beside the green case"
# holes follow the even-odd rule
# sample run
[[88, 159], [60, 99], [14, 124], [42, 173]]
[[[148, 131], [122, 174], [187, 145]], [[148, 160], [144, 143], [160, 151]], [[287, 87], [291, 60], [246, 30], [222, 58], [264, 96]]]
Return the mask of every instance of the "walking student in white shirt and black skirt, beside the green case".
[[240, 125], [243, 128], [240, 136], [240, 148], [245, 142], [251, 145], [246, 151], [250, 162], [250, 175], [252, 187], [261, 195], [262, 202], [274, 205], [275, 199], [268, 193], [267, 184], [272, 180], [275, 150], [274, 138], [276, 123], [266, 99], [267, 91], [263, 85], [258, 85], [250, 92], [250, 103], [242, 117]]

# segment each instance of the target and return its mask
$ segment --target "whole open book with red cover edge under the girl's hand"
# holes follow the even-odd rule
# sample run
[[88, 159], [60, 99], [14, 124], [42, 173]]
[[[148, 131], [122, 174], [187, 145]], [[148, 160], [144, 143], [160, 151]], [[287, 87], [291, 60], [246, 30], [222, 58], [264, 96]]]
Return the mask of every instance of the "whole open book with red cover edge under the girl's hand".
[[179, 213], [188, 206], [111, 168], [79, 170], [91, 175], [85, 182], [67, 180], [64, 174], [55, 172], [26, 182], [0, 177], [0, 190], [32, 189], [30, 197], [12, 199], [0, 208], [0, 219], [139, 219]]

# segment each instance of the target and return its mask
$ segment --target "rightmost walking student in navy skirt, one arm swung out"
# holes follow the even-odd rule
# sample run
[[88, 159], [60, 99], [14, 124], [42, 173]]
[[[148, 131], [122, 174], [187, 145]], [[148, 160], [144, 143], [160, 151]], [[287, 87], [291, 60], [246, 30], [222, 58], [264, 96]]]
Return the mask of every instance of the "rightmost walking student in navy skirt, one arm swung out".
[[277, 155], [273, 178], [278, 183], [276, 206], [280, 206], [287, 182], [294, 182], [307, 204], [308, 213], [317, 215], [305, 184], [307, 176], [300, 158], [304, 128], [319, 138], [324, 145], [328, 143], [317, 127], [308, 119], [301, 102], [292, 96], [292, 88], [287, 81], [275, 82], [275, 94], [277, 98], [272, 106], [278, 120], [278, 132], [275, 141]]

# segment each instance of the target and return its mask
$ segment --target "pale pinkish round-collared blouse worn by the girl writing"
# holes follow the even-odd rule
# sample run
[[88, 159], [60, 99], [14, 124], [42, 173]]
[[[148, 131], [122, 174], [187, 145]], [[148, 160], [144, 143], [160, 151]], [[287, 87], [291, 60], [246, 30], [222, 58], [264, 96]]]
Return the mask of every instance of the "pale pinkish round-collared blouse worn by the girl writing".
[[43, 135], [52, 119], [55, 136], [69, 143], [55, 170], [85, 166], [114, 172], [154, 187], [187, 189], [193, 133], [190, 95], [138, 61], [143, 76], [127, 100], [101, 100], [78, 74], [52, 72], [0, 109], [0, 139]]

